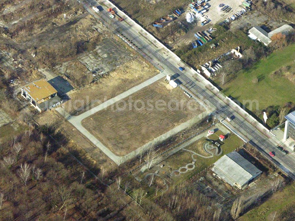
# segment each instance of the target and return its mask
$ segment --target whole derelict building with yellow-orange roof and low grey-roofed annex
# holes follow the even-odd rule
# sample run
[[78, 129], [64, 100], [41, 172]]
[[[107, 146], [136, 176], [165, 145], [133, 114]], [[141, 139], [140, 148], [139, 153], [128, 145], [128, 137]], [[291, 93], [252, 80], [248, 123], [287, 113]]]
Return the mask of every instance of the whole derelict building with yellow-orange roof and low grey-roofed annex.
[[22, 96], [30, 101], [33, 107], [43, 112], [58, 106], [63, 100], [57, 96], [54, 87], [44, 79], [22, 88]]

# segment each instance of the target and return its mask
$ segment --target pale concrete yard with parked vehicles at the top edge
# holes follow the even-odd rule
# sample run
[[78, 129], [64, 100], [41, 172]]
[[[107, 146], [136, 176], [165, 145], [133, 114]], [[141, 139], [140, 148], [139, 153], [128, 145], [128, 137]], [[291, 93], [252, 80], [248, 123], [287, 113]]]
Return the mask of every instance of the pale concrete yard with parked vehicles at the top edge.
[[[209, 1], [210, 5], [208, 12], [205, 13], [211, 20], [212, 24], [221, 22], [222, 20], [232, 16], [232, 14], [242, 10], [242, 0], [222, 0], [222, 1]], [[229, 12], [222, 12], [219, 4], [224, 4], [232, 8]]]

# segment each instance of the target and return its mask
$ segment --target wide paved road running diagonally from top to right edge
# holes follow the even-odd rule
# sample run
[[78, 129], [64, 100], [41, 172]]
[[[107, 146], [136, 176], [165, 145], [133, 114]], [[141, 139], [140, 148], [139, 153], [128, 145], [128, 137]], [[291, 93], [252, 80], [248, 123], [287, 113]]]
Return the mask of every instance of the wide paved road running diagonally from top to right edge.
[[[276, 146], [280, 143], [275, 143], [269, 139], [271, 134], [263, 130], [260, 125], [253, 122], [244, 113], [237, 110], [237, 108], [229, 103], [227, 99], [222, 96], [218, 91], [212, 89], [212, 87], [204, 81], [201, 77], [196, 76], [195, 71], [191, 67], [182, 62], [171, 51], [161, 45], [155, 38], [147, 34], [141, 27], [134, 24], [134, 22], [124, 17], [123, 22], [117, 21], [117, 19], [111, 19], [109, 13], [106, 11], [107, 7], [111, 7], [105, 0], [99, 1], [103, 10], [99, 13], [95, 13], [91, 6], [98, 5], [94, 0], [87, 0], [88, 4], [85, 4], [85, 8], [93, 14], [94, 17], [100, 19], [105, 25], [109, 27], [115, 27], [114, 33], [123, 34], [128, 37], [135, 45], [137, 45], [141, 53], [147, 60], [149, 60], [154, 66], [166, 73], [175, 74], [179, 73], [178, 79], [182, 82], [183, 86], [187, 87], [191, 93], [207, 104], [208, 110], [217, 115], [218, 119], [224, 119], [227, 115], [235, 115], [235, 119], [230, 122], [230, 125], [242, 136], [246, 137], [247, 141], [253, 145], [256, 145], [258, 150], [268, 157], [273, 163], [276, 163], [283, 171], [288, 173], [293, 179], [295, 179], [295, 153], [283, 155], [276, 151]], [[116, 11], [116, 9], [115, 9]], [[185, 71], [179, 72], [178, 67], [182, 66]], [[275, 151], [276, 156], [270, 158], [269, 151]]]

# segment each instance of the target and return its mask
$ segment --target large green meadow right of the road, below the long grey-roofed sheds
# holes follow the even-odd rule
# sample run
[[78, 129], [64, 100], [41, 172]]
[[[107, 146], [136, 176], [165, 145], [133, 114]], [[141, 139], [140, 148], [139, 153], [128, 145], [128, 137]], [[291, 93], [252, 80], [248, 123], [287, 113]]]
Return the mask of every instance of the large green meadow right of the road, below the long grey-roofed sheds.
[[[285, 77], [274, 78], [272, 73], [282, 66], [295, 65], [295, 44], [278, 50], [260, 60], [253, 68], [241, 71], [230, 83], [224, 85], [224, 93], [233, 96], [242, 104], [243, 100], [258, 100], [259, 110], [271, 105], [295, 103], [295, 85]], [[253, 83], [253, 78], [258, 83]], [[249, 108], [249, 105], [246, 107]], [[256, 105], [253, 105], [254, 111]]]

